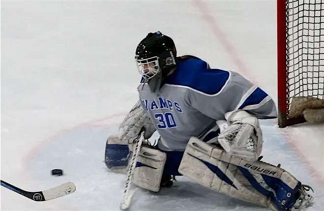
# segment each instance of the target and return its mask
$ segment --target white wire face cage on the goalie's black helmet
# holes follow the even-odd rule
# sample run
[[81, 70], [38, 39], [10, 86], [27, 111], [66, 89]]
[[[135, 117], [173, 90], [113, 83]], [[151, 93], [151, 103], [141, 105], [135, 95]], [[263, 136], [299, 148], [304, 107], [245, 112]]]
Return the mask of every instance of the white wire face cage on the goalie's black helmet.
[[159, 57], [153, 56], [147, 59], [135, 58], [138, 72], [146, 79], [151, 79], [161, 72]]

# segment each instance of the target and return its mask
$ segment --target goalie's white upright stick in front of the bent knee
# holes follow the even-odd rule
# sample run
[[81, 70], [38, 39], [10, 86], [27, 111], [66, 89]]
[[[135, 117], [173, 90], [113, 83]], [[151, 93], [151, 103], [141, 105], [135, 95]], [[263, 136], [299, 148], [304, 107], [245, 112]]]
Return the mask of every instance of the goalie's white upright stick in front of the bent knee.
[[139, 133], [139, 136], [135, 139], [135, 149], [134, 149], [134, 152], [133, 152], [133, 155], [131, 158], [131, 163], [130, 163], [130, 165], [128, 167], [128, 171], [127, 171], [127, 180], [126, 180], [125, 189], [124, 189], [124, 196], [123, 196], [120, 206], [119, 206], [119, 208], [121, 210], [126, 210], [129, 208], [132, 197], [136, 191], [136, 189], [130, 191], [130, 185], [132, 182], [132, 177], [133, 177], [134, 169], [136, 166], [136, 160], [137, 160], [138, 154], [140, 153], [142, 142], [144, 140], [144, 133], [145, 133], [145, 128], [143, 127]]

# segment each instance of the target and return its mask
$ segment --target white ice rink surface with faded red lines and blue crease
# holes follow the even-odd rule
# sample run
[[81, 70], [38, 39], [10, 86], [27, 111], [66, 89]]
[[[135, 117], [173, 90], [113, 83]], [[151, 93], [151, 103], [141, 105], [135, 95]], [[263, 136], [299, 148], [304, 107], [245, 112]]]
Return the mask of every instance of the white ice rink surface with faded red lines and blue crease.
[[[277, 101], [276, 0], [1, 0], [1, 180], [30, 191], [77, 186], [41, 203], [1, 187], [1, 210], [118, 211], [125, 176], [105, 166], [105, 142], [138, 98], [135, 48], [157, 30], [178, 55], [239, 72]], [[324, 210], [324, 125], [261, 124], [264, 160], [311, 185], [308, 210]], [[178, 177], [137, 192], [131, 210], [267, 209]]]

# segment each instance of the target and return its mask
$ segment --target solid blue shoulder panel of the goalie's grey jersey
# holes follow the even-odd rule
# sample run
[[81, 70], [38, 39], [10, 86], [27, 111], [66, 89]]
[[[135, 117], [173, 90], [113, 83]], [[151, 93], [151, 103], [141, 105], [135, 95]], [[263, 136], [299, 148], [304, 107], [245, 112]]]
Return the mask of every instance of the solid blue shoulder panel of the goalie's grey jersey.
[[209, 69], [205, 61], [190, 58], [177, 63], [177, 70], [165, 83], [187, 86], [208, 95], [217, 94], [230, 77], [228, 71]]

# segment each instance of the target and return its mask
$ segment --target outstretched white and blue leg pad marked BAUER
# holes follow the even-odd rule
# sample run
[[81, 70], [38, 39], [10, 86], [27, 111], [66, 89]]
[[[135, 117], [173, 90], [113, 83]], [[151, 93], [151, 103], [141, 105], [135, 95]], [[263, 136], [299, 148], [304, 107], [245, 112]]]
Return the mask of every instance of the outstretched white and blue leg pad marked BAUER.
[[275, 211], [290, 210], [301, 188], [284, 169], [231, 156], [196, 137], [189, 140], [179, 172], [219, 193]]

